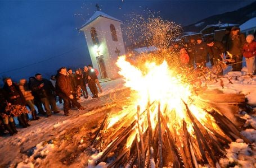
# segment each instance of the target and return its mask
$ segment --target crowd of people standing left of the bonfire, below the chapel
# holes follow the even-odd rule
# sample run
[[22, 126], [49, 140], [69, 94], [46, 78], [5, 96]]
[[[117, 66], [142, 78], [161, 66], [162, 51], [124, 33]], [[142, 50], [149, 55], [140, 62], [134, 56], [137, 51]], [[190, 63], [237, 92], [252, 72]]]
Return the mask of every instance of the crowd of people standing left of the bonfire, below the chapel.
[[88, 99], [87, 85], [93, 99], [98, 97], [98, 88], [100, 92], [103, 91], [97, 76], [97, 69], [89, 65], [76, 69], [75, 73], [70, 68], [67, 70], [61, 67], [50, 80], [43, 78], [40, 73], [30, 77], [28, 82], [21, 79], [19, 83], [15, 83], [11, 78], [5, 78], [5, 84], [0, 88], [1, 133], [5, 130], [8, 130], [11, 136], [17, 133], [14, 117], [21, 127], [26, 128], [30, 126], [28, 113], [32, 115], [32, 120], [38, 120], [38, 114], [48, 118], [52, 114], [60, 113], [56, 101], [60, 104], [63, 101], [66, 116], [71, 115], [71, 108], [83, 110], [84, 107], [78, 100], [82, 95]]

